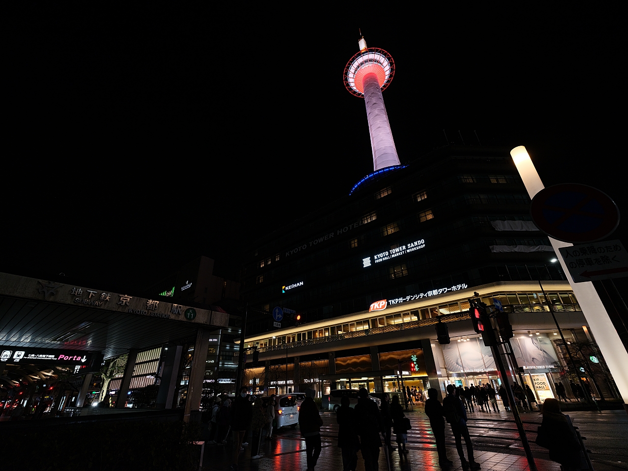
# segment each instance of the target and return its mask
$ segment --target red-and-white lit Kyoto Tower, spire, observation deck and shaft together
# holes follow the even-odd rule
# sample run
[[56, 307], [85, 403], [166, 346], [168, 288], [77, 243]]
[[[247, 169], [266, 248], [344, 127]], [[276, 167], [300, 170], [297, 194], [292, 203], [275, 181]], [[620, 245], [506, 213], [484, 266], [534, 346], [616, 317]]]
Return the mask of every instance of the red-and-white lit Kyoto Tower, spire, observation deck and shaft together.
[[393, 81], [394, 62], [383, 49], [368, 48], [364, 36], [358, 41], [360, 51], [345, 66], [345, 87], [357, 97], [364, 97], [369, 120], [374, 171], [400, 165], [388, 122], [382, 90]]

